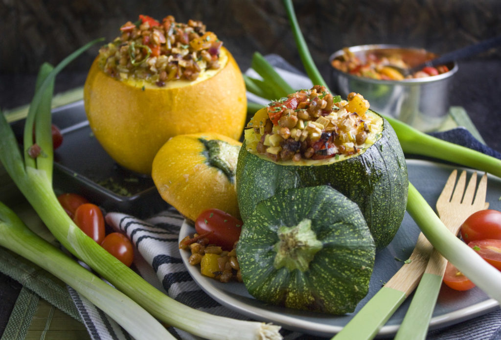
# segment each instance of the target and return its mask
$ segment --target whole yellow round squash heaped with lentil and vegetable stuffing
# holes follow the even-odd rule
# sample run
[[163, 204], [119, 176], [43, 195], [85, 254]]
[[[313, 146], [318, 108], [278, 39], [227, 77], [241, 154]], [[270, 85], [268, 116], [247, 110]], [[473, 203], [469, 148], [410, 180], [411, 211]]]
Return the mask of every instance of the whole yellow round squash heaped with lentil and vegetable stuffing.
[[245, 85], [231, 54], [201, 22], [140, 16], [103, 46], [84, 86], [90, 127], [121, 166], [150, 174], [171, 137], [215, 132], [238, 139]]

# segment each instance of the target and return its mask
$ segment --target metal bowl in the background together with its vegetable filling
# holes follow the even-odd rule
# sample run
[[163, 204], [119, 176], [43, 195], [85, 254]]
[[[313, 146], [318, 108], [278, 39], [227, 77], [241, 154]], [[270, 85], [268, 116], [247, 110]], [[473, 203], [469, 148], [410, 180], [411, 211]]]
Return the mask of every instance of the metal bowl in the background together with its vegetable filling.
[[419, 48], [397, 45], [360, 45], [331, 55], [331, 87], [347, 96], [360, 93], [371, 109], [397, 118], [421, 131], [433, 131], [449, 112], [449, 89], [457, 64], [449, 63], [403, 75], [437, 56]]

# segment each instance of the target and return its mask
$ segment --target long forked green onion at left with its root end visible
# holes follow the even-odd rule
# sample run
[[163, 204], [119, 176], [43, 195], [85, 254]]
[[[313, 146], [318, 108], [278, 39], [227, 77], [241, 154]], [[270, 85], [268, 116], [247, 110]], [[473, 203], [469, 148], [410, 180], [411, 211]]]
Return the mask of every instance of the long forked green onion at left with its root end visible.
[[[52, 85], [58, 72], [97, 41], [75, 51], [45, 78], [41, 77], [28, 111], [22, 152], [19, 150], [12, 128], [5, 116], [0, 114], [0, 136], [2, 136], [0, 160], [5, 169], [61, 245], [146, 309], [153, 317], [208, 339], [281, 338], [279, 326], [215, 316], [170, 298], [82, 232], [60, 205], [52, 187], [54, 165], [50, 132]], [[33, 140], [34, 126], [37, 148], [34, 147]], [[56, 266], [56, 270], [65, 268]], [[120, 305], [120, 301], [117, 300], [115, 307], [120, 308]], [[137, 310], [139, 312], [139, 309]], [[134, 315], [136, 309], [127, 312]], [[150, 338], [162, 338], [162, 336]]]

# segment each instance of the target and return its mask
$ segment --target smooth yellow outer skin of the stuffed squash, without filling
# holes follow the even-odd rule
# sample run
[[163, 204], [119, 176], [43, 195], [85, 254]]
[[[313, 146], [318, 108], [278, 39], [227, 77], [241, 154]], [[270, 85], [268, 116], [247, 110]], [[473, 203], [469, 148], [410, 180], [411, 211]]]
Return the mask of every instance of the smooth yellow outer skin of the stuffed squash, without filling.
[[160, 147], [171, 137], [216, 132], [238, 139], [245, 124], [247, 101], [240, 69], [228, 61], [210, 78], [182, 87], [152, 87], [116, 80], [94, 61], [84, 85], [90, 127], [121, 166], [150, 174]]

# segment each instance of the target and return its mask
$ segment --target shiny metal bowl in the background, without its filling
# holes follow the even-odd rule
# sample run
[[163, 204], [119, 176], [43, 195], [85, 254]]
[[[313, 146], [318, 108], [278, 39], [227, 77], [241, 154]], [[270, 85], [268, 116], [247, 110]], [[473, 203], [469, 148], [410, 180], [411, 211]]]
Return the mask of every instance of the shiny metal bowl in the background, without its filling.
[[[365, 61], [367, 52], [399, 52], [410, 66], [433, 58], [423, 49], [403, 48], [397, 45], [361, 45], [349, 50]], [[339, 50], [331, 55], [329, 63], [343, 55]], [[446, 65], [450, 71], [432, 77], [401, 81], [377, 80], [359, 77], [332, 67], [331, 88], [343, 98], [351, 92], [360, 93], [370, 103], [371, 109], [397, 118], [418, 130], [432, 131], [440, 127], [449, 112], [449, 89], [456, 63]]]

